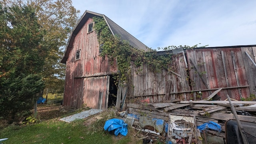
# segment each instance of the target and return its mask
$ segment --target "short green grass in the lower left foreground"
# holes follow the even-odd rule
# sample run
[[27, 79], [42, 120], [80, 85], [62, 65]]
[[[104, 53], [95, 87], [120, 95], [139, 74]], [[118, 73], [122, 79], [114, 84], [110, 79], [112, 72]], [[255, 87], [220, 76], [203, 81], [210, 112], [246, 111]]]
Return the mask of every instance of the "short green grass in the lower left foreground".
[[[81, 120], [80, 120], [81, 121]], [[103, 130], [91, 133], [83, 122], [48, 121], [27, 126], [12, 126], [2, 130], [1, 138], [9, 138], [4, 144], [110, 144], [111, 135]]]

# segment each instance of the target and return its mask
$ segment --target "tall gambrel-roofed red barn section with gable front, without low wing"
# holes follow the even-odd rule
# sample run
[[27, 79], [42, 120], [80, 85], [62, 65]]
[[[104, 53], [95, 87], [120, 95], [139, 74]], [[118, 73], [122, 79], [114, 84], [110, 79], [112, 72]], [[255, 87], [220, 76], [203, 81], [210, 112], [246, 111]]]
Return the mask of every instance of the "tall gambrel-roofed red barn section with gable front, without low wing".
[[[126, 32], [104, 14], [86, 10], [70, 34], [62, 63], [66, 64], [64, 106], [81, 108], [86, 104], [90, 108], [105, 109], [116, 104], [118, 90], [113, 74], [117, 66], [110, 65], [107, 58], [100, 56], [97, 34], [93, 29], [93, 17], [103, 17], [112, 34], [127, 40], [135, 48], [144, 50], [146, 46]], [[115, 95], [115, 96], [114, 96]]]

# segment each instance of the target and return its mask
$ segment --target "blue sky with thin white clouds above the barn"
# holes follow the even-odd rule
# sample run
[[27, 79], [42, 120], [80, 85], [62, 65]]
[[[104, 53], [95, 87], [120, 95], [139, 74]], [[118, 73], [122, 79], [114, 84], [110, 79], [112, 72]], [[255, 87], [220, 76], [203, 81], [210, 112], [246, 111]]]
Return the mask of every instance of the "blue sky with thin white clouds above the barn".
[[256, 44], [256, 0], [72, 0], [106, 15], [146, 46]]

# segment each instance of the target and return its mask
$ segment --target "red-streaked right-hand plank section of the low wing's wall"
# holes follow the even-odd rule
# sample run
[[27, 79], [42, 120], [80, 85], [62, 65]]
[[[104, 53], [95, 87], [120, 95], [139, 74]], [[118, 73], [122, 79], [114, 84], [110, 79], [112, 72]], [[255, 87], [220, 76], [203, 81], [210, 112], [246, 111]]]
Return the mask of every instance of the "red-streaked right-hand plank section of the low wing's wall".
[[[248, 85], [250, 78], [247, 77], [245, 68], [245, 63], [248, 63], [248, 60], [243, 58], [245, 49], [251, 48], [200, 48], [186, 50], [189, 60], [188, 70], [192, 82], [191, 89], [200, 90]], [[192, 60], [199, 70], [196, 70]], [[255, 72], [254, 67], [254, 74], [256, 74]], [[204, 78], [206, 84], [204, 84], [200, 76]], [[250, 87], [253, 87], [253, 85]], [[211, 92], [214, 91], [202, 91], [202, 99], [207, 98]], [[241, 98], [249, 97], [250, 94], [255, 94], [255, 91], [250, 92], [249, 88], [246, 87], [223, 89], [218, 93], [222, 100], [226, 99], [226, 94], [229, 94], [233, 99], [240, 100]]]

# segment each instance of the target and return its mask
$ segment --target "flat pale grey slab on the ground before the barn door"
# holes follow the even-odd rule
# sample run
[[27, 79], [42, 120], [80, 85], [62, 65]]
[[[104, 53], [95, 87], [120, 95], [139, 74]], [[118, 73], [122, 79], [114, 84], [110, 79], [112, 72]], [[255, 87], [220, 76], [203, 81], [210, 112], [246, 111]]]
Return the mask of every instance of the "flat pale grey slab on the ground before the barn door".
[[76, 119], [83, 119], [83, 118], [86, 118], [88, 116], [92, 116], [92, 115], [97, 114], [101, 111], [102, 110], [99, 110], [99, 109], [90, 109], [90, 110], [86, 110], [86, 111], [83, 111], [83, 112], [79, 112], [77, 114], [72, 114], [72, 115], [64, 117], [64, 118], [60, 118], [59, 120], [62, 120], [64, 122], [72, 122]]

